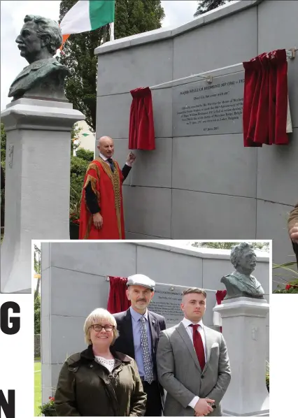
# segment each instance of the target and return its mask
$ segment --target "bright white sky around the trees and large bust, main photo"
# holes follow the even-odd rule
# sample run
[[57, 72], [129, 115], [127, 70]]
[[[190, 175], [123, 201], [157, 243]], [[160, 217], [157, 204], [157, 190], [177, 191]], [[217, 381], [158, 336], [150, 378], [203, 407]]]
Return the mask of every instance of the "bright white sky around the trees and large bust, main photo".
[[[60, 1], [10, 1], [1, 0], [1, 110], [6, 108], [11, 99], [8, 90], [22, 69], [28, 65], [20, 56], [15, 38], [20, 33], [25, 15], [41, 15], [59, 20]], [[193, 20], [197, 10], [195, 0], [162, 1], [166, 17], [162, 27], [180, 26]]]

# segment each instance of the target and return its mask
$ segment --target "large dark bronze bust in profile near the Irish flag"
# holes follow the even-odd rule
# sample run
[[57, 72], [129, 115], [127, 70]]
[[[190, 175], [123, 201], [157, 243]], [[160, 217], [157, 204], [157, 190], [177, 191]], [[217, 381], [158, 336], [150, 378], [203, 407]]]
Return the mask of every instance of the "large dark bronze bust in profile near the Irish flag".
[[67, 101], [64, 79], [69, 69], [53, 56], [62, 45], [62, 33], [57, 22], [46, 17], [27, 15], [15, 42], [21, 57], [29, 66], [15, 78], [8, 97]]

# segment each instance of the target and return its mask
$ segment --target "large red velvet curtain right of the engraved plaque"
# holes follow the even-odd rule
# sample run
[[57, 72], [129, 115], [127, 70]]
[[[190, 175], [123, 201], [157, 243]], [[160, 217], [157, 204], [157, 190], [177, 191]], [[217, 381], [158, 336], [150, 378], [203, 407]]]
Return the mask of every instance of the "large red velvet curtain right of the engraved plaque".
[[244, 146], [288, 144], [288, 62], [285, 50], [265, 52], [243, 62], [243, 67]]

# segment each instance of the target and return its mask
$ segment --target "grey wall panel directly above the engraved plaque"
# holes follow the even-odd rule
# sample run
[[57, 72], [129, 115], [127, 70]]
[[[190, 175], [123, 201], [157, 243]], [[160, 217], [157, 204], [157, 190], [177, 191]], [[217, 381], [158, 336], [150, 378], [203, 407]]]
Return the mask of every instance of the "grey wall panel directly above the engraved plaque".
[[250, 8], [174, 38], [173, 79], [238, 64], [256, 55], [257, 8]]

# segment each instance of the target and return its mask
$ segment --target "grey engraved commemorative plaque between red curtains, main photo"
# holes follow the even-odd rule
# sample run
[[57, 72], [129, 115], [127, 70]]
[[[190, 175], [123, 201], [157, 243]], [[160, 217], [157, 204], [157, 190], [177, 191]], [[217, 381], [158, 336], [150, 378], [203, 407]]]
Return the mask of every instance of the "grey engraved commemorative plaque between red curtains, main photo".
[[173, 136], [240, 134], [244, 72], [173, 87]]

